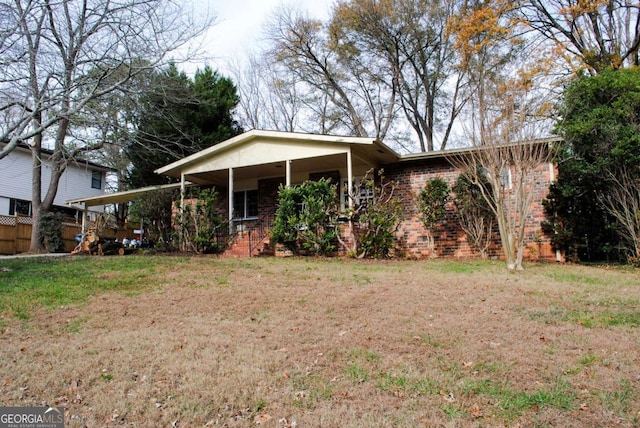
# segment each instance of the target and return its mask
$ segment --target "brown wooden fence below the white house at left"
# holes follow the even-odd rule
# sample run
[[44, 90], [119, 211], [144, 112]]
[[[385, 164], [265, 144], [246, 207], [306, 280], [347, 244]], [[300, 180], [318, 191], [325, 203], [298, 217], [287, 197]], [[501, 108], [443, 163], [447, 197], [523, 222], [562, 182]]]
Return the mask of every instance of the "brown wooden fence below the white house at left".
[[[25, 216], [0, 215], [0, 254], [19, 254], [29, 251], [31, 244], [31, 225], [33, 219]], [[70, 253], [76, 247], [76, 234], [82, 232], [78, 223], [63, 223], [62, 240], [64, 251]], [[91, 227], [92, 225], [88, 225]], [[106, 229], [103, 235], [122, 240], [132, 238], [133, 231], [128, 229]]]

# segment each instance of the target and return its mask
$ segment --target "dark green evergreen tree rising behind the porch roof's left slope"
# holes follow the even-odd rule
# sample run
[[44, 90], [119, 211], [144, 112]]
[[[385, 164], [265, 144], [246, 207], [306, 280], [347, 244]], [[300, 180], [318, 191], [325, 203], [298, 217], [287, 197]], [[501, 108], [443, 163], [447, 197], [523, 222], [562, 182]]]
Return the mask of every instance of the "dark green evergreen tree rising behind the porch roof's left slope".
[[127, 148], [130, 187], [168, 183], [154, 171], [242, 132], [232, 115], [239, 102], [236, 87], [210, 67], [190, 78], [171, 65], [149, 87]]

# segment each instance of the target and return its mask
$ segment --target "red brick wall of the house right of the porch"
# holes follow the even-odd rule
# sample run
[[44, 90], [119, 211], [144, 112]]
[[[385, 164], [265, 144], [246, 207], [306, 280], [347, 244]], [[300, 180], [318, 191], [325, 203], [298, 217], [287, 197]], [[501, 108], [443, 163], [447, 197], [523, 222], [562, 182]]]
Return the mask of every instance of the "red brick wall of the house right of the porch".
[[[418, 214], [416, 196], [424, 187], [427, 180], [440, 177], [453, 186], [459, 171], [446, 159], [420, 159], [399, 162], [384, 167], [387, 180], [398, 183], [398, 194], [402, 198], [405, 219], [397, 230], [399, 243], [398, 254], [408, 258], [425, 257], [478, 257], [466, 241], [465, 233], [458, 226], [455, 218], [455, 207], [452, 202], [447, 204], [445, 219], [434, 230], [435, 254], [430, 254], [427, 241], [427, 231]], [[525, 258], [533, 260], [555, 260], [550, 239], [542, 234], [540, 222], [544, 219], [542, 199], [547, 196], [550, 183], [548, 164], [540, 165], [536, 170], [533, 207], [526, 226]], [[502, 248], [497, 229], [494, 231], [493, 242], [489, 248], [490, 257], [501, 257]]]

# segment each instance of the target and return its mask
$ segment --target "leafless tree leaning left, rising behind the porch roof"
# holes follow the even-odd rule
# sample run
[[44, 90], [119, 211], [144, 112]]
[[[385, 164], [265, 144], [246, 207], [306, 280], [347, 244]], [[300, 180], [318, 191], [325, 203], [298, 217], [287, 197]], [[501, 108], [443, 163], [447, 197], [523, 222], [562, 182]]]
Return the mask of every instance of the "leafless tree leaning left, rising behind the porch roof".
[[387, 135], [395, 114], [395, 92], [386, 90], [388, 82], [368, 65], [341, 62], [322, 22], [282, 7], [267, 31], [272, 44], [267, 55], [304, 83], [307, 107], [320, 101], [313, 111], [326, 112], [321, 128], [380, 139]]

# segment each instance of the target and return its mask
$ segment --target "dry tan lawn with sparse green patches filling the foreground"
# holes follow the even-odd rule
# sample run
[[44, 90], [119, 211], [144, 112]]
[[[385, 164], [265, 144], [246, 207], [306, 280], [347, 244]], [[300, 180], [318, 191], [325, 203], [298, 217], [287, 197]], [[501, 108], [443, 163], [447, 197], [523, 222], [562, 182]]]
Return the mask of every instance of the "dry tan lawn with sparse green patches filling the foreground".
[[69, 427], [638, 426], [637, 278], [185, 259], [8, 322], [0, 400], [66, 406]]

